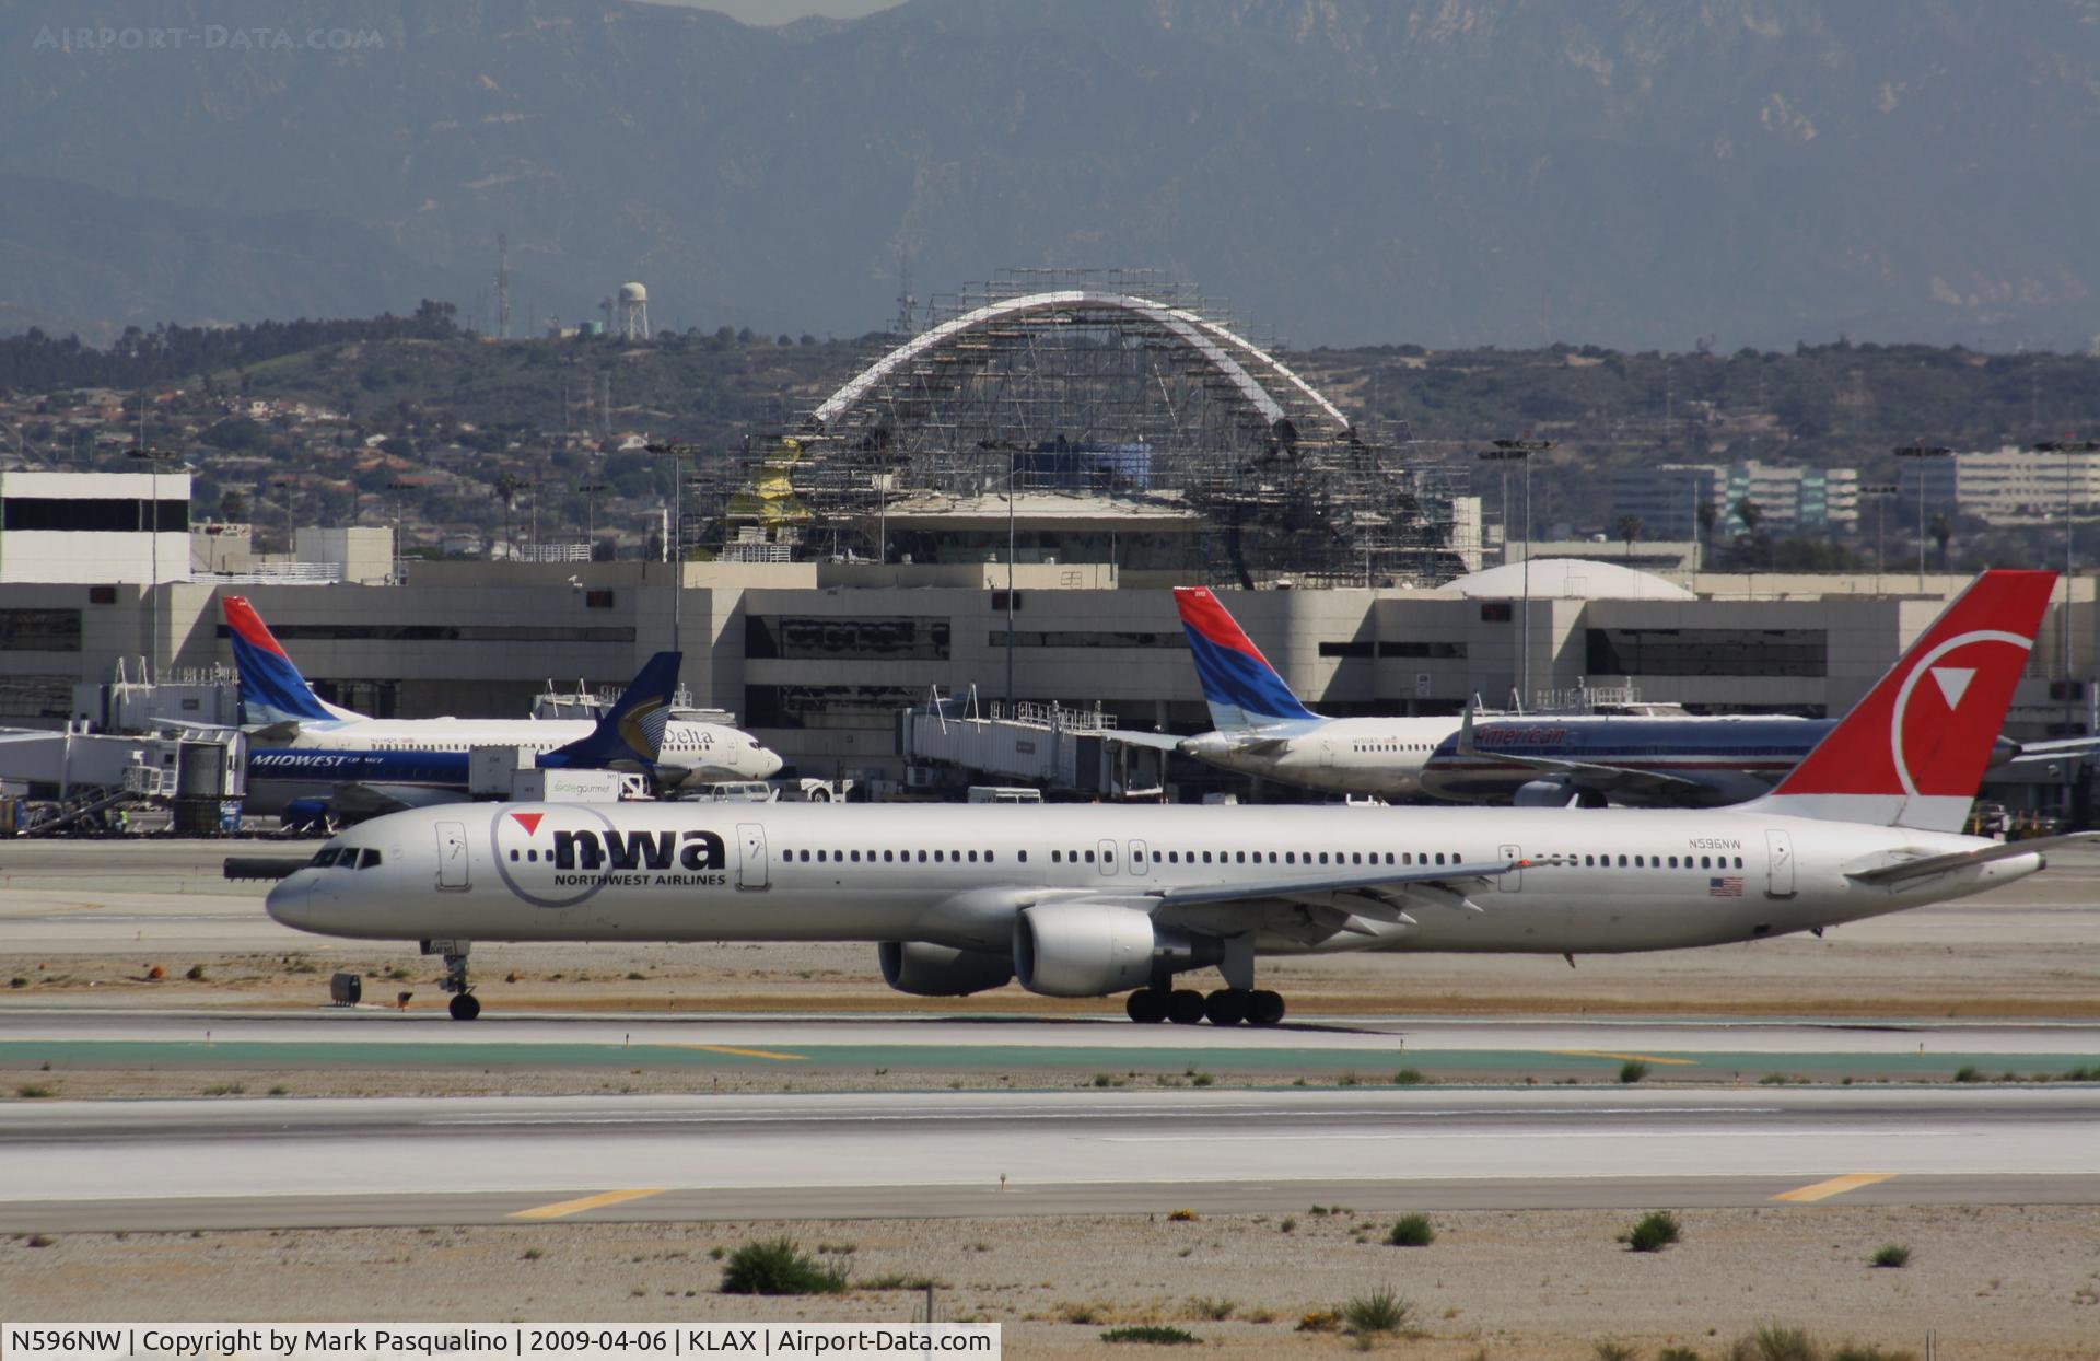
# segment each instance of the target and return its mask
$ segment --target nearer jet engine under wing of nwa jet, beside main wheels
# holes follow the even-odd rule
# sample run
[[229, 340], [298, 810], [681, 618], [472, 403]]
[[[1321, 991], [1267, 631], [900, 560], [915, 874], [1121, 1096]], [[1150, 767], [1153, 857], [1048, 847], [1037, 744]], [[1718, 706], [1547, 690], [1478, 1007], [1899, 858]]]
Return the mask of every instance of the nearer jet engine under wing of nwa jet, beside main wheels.
[[1105, 998], [1220, 958], [1214, 937], [1159, 926], [1130, 907], [1044, 903], [1014, 920], [1014, 975], [1046, 998]]

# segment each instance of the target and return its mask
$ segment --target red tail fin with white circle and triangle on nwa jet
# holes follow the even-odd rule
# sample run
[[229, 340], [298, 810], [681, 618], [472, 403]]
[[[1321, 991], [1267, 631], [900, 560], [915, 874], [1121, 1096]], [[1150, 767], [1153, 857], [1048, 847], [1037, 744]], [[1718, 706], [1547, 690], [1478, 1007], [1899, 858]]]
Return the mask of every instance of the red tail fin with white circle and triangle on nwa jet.
[[2054, 571], [1984, 571], [1745, 809], [1959, 832], [2054, 588]]

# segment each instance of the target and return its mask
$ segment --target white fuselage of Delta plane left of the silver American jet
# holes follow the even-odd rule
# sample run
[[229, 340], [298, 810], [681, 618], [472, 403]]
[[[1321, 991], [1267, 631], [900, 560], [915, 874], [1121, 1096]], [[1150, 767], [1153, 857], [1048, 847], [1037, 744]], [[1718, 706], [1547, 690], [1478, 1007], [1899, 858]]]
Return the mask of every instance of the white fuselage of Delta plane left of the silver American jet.
[[1277, 737], [1203, 733], [1182, 752], [1226, 771], [1336, 794], [1407, 798], [1422, 792], [1422, 767], [1460, 718], [1321, 718], [1279, 727]]

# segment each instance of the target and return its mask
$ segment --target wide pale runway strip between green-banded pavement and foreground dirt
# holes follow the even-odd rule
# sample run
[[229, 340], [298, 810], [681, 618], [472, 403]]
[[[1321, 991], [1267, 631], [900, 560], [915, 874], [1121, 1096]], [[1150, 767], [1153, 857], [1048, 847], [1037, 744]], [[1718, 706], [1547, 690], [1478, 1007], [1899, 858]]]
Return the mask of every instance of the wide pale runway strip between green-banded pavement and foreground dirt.
[[[2100, 1203], [2096, 1088], [0, 1107], [0, 1231], [1294, 1208]], [[1806, 1195], [1804, 1195], [1806, 1193]], [[523, 1212], [523, 1214], [521, 1214]]]

